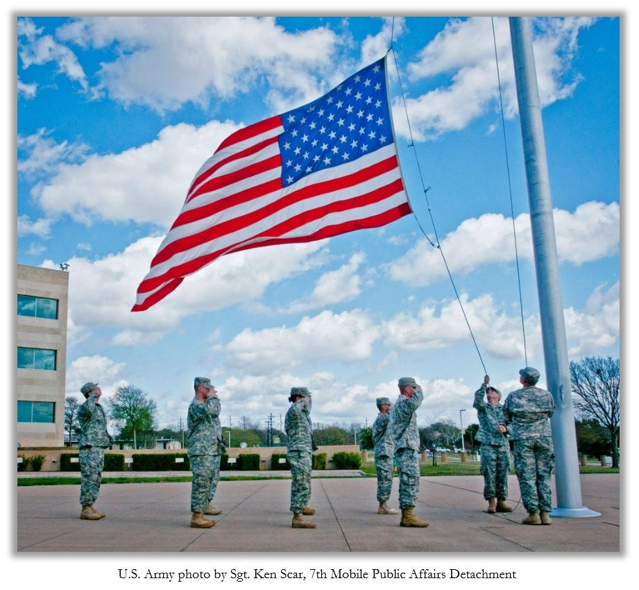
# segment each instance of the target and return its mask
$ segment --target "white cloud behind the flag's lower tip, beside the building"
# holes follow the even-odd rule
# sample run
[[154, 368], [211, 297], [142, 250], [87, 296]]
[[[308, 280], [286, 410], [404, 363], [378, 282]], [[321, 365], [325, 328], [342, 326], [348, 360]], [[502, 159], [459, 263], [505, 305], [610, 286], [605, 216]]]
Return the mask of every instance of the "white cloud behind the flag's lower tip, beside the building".
[[[149, 344], [184, 317], [255, 301], [269, 285], [316, 267], [314, 256], [320, 252], [322, 259], [325, 244], [286, 244], [223, 256], [187, 277], [161, 304], [132, 313], [137, 286], [161, 241], [161, 237], [146, 237], [99, 260], [76, 256], [68, 261], [71, 342], [98, 326], [110, 326], [119, 330], [113, 344]], [[57, 268], [53, 262], [45, 264]]]

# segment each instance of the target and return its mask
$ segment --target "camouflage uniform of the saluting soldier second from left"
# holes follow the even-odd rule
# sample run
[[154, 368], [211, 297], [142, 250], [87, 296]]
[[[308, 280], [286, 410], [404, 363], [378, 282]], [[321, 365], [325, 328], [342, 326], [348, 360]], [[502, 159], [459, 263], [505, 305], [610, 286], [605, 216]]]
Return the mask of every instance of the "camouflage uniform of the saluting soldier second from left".
[[220, 460], [225, 447], [220, 424], [219, 398], [210, 396], [203, 402], [193, 398], [189, 405], [189, 462], [191, 481], [191, 512], [203, 512], [215, 494], [220, 478]]

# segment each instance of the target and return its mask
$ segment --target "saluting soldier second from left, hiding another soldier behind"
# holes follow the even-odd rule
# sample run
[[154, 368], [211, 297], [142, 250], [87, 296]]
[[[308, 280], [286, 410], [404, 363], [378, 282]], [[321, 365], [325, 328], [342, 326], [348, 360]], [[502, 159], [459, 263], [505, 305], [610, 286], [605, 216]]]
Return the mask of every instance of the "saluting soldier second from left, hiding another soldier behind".
[[225, 446], [220, 424], [220, 401], [215, 387], [205, 377], [193, 382], [195, 397], [189, 405], [187, 428], [189, 430], [189, 462], [191, 480], [191, 527], [210, 528], [215, 521], [205, 519], [204, 514], [220, 514], [212, 505], [220, 478], [220, 461]]

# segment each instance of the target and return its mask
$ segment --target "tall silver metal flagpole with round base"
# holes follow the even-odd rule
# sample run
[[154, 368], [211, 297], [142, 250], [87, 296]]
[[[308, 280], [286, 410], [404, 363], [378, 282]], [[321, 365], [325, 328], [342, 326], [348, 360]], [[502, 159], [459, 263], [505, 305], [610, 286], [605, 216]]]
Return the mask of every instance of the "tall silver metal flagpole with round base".
[[568, 345], [530, 23], [527, 17], [510, 17], [509, 24], [528, 182], [546, 382], [556, 405], [550, 423], [557, 506], [551, 514], [570, 518], [601, 516], [581, 502]]

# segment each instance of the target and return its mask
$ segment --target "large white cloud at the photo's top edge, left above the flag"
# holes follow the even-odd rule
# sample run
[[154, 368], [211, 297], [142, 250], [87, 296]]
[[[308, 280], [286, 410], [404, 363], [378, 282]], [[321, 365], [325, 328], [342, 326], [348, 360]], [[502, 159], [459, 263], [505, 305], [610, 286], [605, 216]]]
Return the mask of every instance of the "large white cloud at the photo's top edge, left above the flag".
[[272, 105], [316, 99], [318, 79], [335, 75], [342, 42], [325, 26], [288, 33], [274, 17], [86, 17], [56, 35], [82, 47], [116, 47], [117, 58], [98, 73], [101, 89], [159, 112], [189, 101], [206, 108], [212, 96], [230, 99], [262, 78], [277, 89], [266, 96]]

